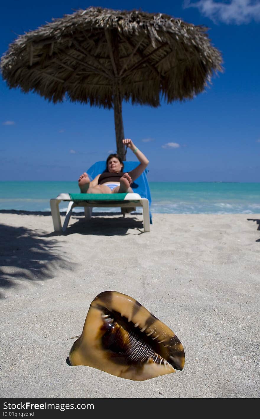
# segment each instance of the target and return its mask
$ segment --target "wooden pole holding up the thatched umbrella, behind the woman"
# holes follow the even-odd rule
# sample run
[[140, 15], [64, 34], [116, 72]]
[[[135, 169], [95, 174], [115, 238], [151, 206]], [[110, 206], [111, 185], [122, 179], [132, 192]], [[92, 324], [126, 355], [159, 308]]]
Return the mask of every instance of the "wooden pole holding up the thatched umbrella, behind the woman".
[[126, 160], [125, 151], [126, 146], [122, 143], [124, 139], [124, 124], [122, 116], [122, 99], [121, 89], [117, 80], [113, 83], [113, 105], [114, 105], [114, 120], [116, 131], [116, 149], [122, 160]]

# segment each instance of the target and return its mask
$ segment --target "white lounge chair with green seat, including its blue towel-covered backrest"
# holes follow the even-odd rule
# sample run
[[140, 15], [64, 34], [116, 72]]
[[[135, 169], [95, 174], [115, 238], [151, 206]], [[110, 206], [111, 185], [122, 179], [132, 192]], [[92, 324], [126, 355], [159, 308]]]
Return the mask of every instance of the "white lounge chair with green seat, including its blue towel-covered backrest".
[[[136, 162], [124, 162], [124, 171], [131, 171], [137, 166]], [[95, 178], [106, 168], [105, 161], [99, 161], [91, 166], [87, 173], [90, 178]], [[72, 209], [75, 207], [84, 207], [85, 218], [90, 220], [93, 207], [121, 207], [124, 208], [142, 207], [144, 231], [150, 231], [152, 224], [152, 214], [149, 209], [151, 204], [151, 193], [147, 181], [147, 169], [131, 185], [133, 193], [131, 194], [59, 194], [56, 198], [50, 200], [51, 215], [55, 231], [65, 231], [70, 221]], [[66, 217], [62, 225], [59, 203], [68, 201]]]

